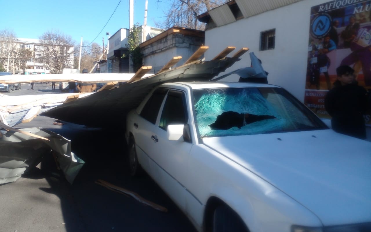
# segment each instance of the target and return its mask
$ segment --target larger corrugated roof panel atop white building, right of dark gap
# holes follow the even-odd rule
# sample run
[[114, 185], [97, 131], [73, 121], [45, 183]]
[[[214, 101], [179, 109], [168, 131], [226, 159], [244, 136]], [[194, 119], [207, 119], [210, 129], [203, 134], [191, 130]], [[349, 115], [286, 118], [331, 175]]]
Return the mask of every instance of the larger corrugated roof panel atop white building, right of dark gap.
[[[268, 10], [274, 10], [282, 6], [287, 6], [298, 1], [302, 0], [236, 0], [236, 3], [240, 8], [243, 17], [247, 18]], [[211, 11], [209, 13], [211, 13]], [[215, 21], [214, 17], [211, 17]]]

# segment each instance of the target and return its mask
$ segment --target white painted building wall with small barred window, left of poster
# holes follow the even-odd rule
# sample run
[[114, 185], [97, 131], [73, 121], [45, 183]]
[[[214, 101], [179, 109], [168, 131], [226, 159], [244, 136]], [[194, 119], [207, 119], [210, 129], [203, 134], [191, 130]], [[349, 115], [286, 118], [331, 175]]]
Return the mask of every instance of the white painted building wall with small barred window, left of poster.
[[[206, 30], [205, 46], [209, 46], [209, 49], [205, 58], [213, 59], [227, 46], [235, 46], [236, 52], [242, 47], [248, 47], [262, 60], [263, 68], [269, 72], [269, 84], [284, 87], [303, 102], [311, 7], [325, 2], [328, 0], [303, 0]], [[260, 32], [270, 29], [276, 29], [275, 49], [259, 51]], [[240, 58], [242, 60], [226, 72], [250, 66], [249, 53]], [[238, 77], [225, 78], [224, 81], [238, 81]]]

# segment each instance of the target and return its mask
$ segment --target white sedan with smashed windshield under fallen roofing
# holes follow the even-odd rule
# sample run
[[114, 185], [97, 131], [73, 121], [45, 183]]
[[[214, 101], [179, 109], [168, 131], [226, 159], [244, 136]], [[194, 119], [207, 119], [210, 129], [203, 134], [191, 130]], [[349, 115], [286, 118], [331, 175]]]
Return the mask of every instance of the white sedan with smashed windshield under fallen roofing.
[[125, 135], [131, 174], [144, 169], [198, 231], [371, 231], [371, 143], [278, 86], [162, 84]]

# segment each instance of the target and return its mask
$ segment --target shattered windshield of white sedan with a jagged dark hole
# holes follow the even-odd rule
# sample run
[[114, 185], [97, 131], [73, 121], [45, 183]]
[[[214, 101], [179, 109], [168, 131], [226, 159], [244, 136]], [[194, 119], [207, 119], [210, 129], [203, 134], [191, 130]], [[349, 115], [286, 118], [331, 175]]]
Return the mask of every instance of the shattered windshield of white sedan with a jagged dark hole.
[[194, 90], [201, 138], [327, 129], [282, 88]]

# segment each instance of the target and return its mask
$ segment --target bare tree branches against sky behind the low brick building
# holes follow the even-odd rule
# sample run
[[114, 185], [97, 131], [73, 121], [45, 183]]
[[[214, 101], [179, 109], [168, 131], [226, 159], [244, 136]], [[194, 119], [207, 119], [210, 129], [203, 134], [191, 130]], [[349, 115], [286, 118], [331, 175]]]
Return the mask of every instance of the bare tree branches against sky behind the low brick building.
[[[205, 13], [226, 1], [227, 0], [169, 0], [166, 2], [166, 4], [170, 5], [169, 12], [164, 12], [164, 22], [156, 23], [156, 26], [161, 28], [181, 26], [204, 30], [205, 24], [198, 22], [196, 16]], [[157, 3], [161, 2], [163, 1], [157, 0]]]

